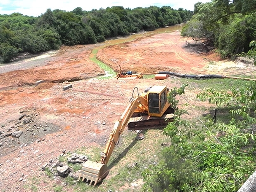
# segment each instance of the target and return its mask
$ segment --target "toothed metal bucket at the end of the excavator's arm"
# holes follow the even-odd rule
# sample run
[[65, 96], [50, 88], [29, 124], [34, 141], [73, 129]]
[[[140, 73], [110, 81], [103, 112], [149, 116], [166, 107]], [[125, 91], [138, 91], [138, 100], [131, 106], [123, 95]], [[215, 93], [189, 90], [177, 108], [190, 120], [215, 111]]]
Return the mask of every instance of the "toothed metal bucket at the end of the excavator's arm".
[[107, 165], [87, 160], [85, 163], [83, 163], [78, 179], [82, 178], [82, 181], [85, 180], [91, 185], [96, 185], [97, 183], [100, 183], [101, 180], [108, 174], [109, 168]]

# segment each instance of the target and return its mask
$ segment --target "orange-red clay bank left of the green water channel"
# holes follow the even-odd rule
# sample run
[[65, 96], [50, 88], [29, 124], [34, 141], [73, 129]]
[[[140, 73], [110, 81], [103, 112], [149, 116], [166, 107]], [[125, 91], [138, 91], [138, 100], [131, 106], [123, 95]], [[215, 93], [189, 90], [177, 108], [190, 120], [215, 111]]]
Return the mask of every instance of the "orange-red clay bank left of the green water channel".
[[[97, 64], [89, 59], [91, 50], [96, 45], [62, 47], [57, 56], [52, 57], [44, 66], [26, 70], [15, 70], [0, 74], [0, 90], [6, 87], [34, 85], [36, 81], [62, 83], [79, 81], [105, 74]], [[30, 59], [27, 59], [31, 62]], [[31, 62], [33, 63], [33, 62]], [[31, 64], [34, 66], [33, 64]]]

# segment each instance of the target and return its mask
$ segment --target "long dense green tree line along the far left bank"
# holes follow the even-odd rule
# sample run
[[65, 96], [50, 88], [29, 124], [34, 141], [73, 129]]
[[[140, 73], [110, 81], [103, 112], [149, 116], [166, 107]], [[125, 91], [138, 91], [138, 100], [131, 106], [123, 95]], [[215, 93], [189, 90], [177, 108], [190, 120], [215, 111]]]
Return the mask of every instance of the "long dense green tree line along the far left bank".
[[40, 17], [19, 13], [0, 15], [0, 62], [12, 61], [23, 52], [104, 42], [105, 38], [180, 24], [191, 17], [191, 11], [156, 6], [135, 9], [116, 6], [89, 12], [81, 7], [71, 12], [47, 9]]

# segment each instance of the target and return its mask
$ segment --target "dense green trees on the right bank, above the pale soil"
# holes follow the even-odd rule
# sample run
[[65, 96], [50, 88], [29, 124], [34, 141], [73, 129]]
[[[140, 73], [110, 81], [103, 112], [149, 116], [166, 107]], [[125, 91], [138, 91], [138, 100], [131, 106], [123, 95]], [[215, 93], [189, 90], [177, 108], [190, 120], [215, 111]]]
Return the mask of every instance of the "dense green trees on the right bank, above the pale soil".
[[212, 0], [194, 5], [182, 36], [213, 44], [223, 57], [248, 52], [256, 40], [256, 0]]

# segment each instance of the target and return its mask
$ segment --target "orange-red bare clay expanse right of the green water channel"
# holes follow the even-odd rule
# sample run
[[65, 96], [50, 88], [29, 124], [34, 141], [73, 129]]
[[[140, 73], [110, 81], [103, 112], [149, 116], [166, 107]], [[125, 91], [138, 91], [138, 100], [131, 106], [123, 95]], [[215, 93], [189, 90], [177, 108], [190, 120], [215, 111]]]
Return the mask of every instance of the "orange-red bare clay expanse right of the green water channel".
[[99, 50], [97, 59], [112, 68], [121, 65], [123, 70], [137, 73], [204, 72], [204, 67], [209, 63], [207, 55], [200, 57], [195, 51], [185, 50], [186, 43], [192, 43], [192, 40], [184, 39], [178, 31], [160, 33], [150, 38], [141, 37], [132, 42], [103, 48]]

